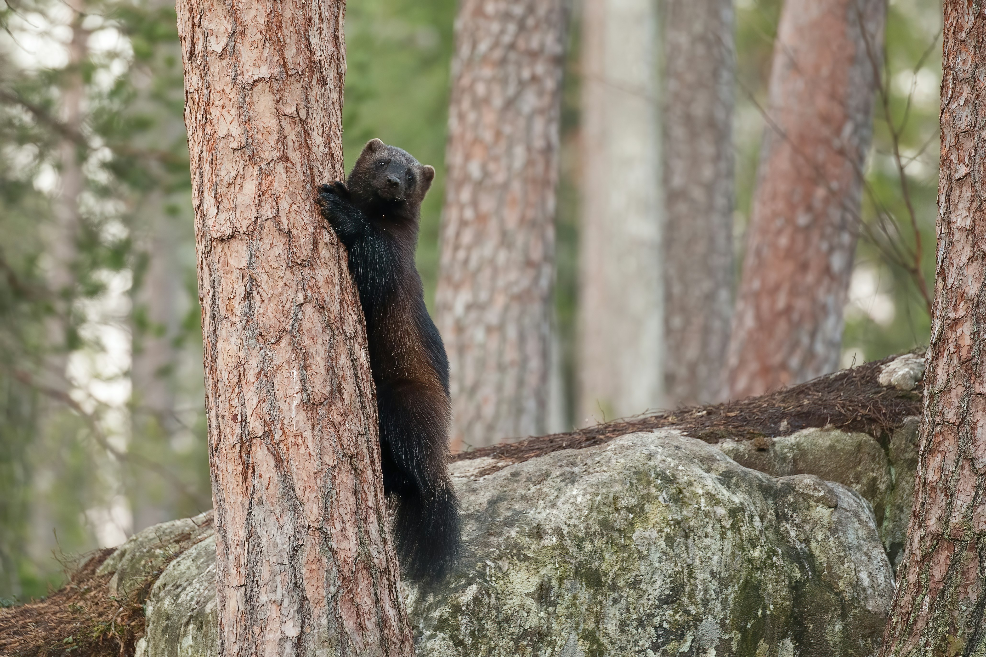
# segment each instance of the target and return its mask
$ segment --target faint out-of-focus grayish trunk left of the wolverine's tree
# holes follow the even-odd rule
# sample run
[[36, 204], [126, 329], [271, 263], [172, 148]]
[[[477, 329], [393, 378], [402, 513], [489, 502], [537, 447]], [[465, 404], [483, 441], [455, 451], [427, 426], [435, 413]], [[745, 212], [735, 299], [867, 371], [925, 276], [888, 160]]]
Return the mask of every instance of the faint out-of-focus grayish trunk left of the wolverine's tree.
[[[148, 0], [141, 8], [151, 20], [163, 21], [174, 7], [174, 2], [168, 0]], [[169, 33], [173, 30], [174, 27]], [[181, 100], [177, 95], [183, 90], [179, 68], [181, 49], [177, 33], [172, 35], [174, 40], [153, 43], [151, 57], [133, 65], [131, 83], [137, 99], [132, 111], [149, 123], [135, 146], [166, 152], [177, 150], [186, 156], [184, 149], [176, 148], [185, 130], [180, 113], [174, 109], [176, 101]], [[174, 174], [166, 166], [151, 166], [154, 187], [142, 190], [131, 229], [137, 266], [130, 313], [133, 341], [130, 450], [164, 460], [163, 467], [177, 472], [171, 440], [181, 428], [176, 409], [176, 367], [182, 356], [178, 345], [184, 300], [178, 250], [182, 239], [187, 238], [181, 225], [190, 218], [182, 212], [187, 204], [187, 190], [173, 183]], [[171, 482], [157, 477], [149, 481], [147, 475], [146, 469], [130, 468], [127, 496], [133, 509], [134, 531], [205, 510], [182, 507], [180, 492]]]

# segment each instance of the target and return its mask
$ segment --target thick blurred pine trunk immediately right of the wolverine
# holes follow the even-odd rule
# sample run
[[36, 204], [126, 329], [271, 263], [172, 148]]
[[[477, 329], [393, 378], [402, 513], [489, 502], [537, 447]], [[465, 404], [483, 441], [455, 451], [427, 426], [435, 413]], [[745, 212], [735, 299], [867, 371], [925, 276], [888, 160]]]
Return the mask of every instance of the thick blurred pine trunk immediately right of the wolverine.
[[565, 0], [463, 0], [436, 306], [454, 451], [548, 424]]

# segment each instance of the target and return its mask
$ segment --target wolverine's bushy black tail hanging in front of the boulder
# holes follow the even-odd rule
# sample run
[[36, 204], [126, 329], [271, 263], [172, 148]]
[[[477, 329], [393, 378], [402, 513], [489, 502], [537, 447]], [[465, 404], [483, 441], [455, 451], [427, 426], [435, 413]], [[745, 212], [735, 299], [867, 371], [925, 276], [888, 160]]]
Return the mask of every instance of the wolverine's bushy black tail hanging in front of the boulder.
[[406, 577], [438, 582], [458, 557], [458, 499], [449, 482], [439, 491], [391, 495], [393, 542]]

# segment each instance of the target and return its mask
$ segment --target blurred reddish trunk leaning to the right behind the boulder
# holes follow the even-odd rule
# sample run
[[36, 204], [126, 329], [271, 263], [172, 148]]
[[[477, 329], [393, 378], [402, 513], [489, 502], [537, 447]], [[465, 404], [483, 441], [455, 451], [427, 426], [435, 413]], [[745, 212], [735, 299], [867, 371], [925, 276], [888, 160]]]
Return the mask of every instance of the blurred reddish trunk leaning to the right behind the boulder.
[[885, 0], [784, 5], [733, 318], [731, 398], [838, 367], [885, 14]]

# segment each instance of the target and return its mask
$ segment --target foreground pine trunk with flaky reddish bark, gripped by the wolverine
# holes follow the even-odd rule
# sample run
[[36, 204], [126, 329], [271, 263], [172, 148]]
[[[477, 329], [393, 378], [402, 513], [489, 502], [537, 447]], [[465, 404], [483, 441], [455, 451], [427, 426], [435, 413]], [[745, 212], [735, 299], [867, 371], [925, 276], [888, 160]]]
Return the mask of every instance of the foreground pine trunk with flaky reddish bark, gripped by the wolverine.
[[177, 4], [221, 655], [412, 655], [345, 253], [342, 0]]

